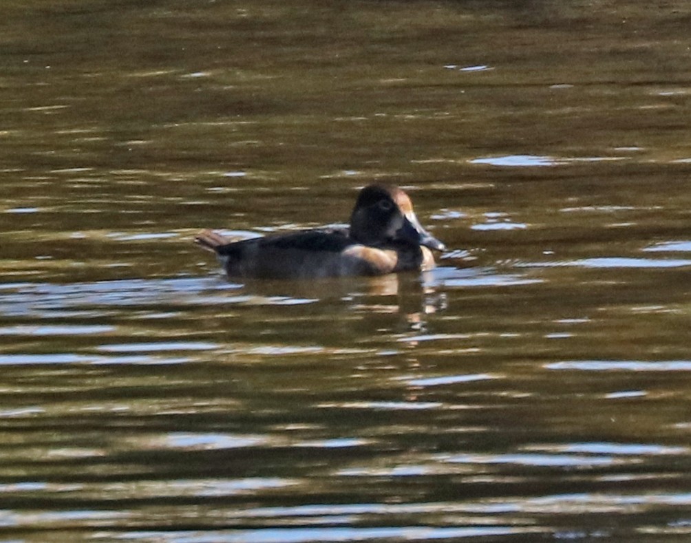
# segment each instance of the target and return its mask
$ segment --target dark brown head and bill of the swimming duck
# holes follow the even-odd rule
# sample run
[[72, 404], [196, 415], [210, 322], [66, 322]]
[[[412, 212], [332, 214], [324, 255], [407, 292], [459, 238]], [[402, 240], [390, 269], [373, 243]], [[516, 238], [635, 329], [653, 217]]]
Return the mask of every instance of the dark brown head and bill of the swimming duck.
[[446, 250], [420, 225], [408, 195], [393, 185], [370, 184], [360, 191], [350, 216], [350, 237], [363, 245], [404, 241]]

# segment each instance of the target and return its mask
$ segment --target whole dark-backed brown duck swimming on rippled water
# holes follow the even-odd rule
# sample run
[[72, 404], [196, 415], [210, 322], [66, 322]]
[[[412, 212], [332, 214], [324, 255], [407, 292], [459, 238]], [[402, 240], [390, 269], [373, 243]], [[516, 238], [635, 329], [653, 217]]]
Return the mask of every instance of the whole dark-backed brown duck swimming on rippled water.
[[195, 241], [216, 254], [229, 278], [316, 279], [426, 271], [435, 267], [432, 251], [446, 251], [417, 220], [405, 191], [388, 184], [361, 189], [348, 227], [240, 241], [207, 229]]

